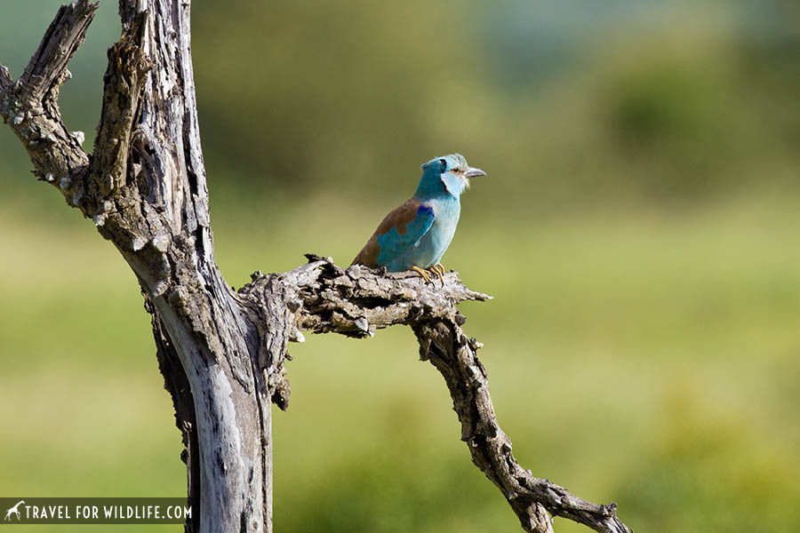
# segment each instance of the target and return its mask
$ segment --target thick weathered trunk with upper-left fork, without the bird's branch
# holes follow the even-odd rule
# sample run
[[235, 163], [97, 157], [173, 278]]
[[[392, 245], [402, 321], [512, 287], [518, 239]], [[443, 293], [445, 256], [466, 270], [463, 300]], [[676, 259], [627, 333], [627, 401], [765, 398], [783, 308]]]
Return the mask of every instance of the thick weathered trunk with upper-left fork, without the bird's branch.
[[[184, 433], [191, 530], [271, 530], [272, 437], [258, 327], [213, 258], [189, 52], [189, 3], [120, 2], [94, 153], [60, 118], [58, 92], [96, 4], [62, 7], [16, 84], [11, 118], [40, 179], [94, 220], [139, 279]], [[44, 114], [41, 113], [44, 111]], [[197, 523], [199, 521], [199, 523]]]

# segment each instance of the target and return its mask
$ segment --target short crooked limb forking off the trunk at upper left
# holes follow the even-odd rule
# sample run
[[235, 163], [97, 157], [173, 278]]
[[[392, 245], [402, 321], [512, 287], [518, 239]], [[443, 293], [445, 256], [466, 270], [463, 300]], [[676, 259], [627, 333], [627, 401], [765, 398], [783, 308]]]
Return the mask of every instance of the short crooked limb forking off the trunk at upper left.
[[84, 133], [64, 125], [58, 99], [72, 76], [68, 62], [83, 44], [98, 5], [87, 0], [62, 5], [16, 82], [0, 66], [0, 115], [28, 150], [34, 174], [58, 187], [73, 206], [82, 201], [89, 156], [81, 147]]

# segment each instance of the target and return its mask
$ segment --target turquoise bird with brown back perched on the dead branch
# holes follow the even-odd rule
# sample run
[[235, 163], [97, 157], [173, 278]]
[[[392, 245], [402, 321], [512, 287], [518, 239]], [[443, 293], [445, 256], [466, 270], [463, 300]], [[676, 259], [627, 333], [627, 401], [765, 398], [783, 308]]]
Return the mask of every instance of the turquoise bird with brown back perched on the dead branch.
[[426, 282], [430, 282], [430, 274], [444, 280], [439, 261], [459, 223], [460, 195], [469, 187], [470, 178], [485, 175], [470, 167], [460, 154], [423, 164], [417, 192], [383, 219], [353, 265], [386, 267], [388, 272], [414, 270]]

